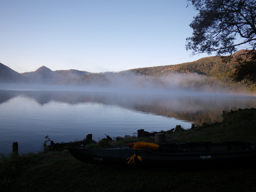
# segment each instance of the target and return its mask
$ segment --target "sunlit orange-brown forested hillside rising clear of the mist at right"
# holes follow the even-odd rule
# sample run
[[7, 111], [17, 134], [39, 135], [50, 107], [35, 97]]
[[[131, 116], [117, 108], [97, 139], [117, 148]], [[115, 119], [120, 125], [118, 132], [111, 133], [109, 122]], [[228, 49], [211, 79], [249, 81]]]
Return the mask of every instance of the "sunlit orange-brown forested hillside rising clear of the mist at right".
[[237, 65], [235, 56], [241, 55], [243, 53], [244, 50], [236, 52], [231, 60], [227, 60], [228, 56], [210, 56], [188, 63], [159, 67], [134, 68], [131, 69], [131, 71], [143, 76], [155, 77], [169, 76], [177, 73], [199, 74], [204, 78], [197, 80], [194, 79], [194, 81], [186, 81], [186, 83], [183, 85], [186, 87], [192, 86], [194, 88], [200, 89], [202, 86], [216, 86], [216, 84], [218, 84], [220, 88], [232, 89], [234, 92], [239, 92], [239, 90], [256, 92], [256, 84], [245, 82], [234, 83], [230, 79], [232, 70]]

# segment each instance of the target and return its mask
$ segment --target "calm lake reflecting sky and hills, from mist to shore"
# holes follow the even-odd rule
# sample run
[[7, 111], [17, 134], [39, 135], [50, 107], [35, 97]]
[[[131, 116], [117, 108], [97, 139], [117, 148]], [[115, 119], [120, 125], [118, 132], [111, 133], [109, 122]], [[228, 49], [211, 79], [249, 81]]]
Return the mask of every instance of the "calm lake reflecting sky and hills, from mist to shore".
[[54, 142], [99, 141], [106, 135], [167, 131], [181, 125], [220, 122], [223, 110], [256, 108], [256, 97], [126, 91], [0, 90], [0, 154], [38, 152]]

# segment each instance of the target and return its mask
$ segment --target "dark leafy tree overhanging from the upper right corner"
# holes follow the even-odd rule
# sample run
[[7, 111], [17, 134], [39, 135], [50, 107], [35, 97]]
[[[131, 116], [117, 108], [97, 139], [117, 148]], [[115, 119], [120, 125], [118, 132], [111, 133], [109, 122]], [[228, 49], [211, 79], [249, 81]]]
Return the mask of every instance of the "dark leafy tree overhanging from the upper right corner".
[[[256, 65], [256, 1], [255, 0], [188, 0], [198, 10], [189, 25], [193, 35], [186, 38], [187, 50], [193, 53], [233, 54], [240, 45], [250, 49], [246, 65], [236, 67], [236, 74], [244, 74], [248, 65]], [[239, 58], [241, 61], [241, 58]], [[243, 63], [243, 64], [244, 64]], [[255, 67], [254, 67], [255, 68]], [[240, 71], [242, 71], [240, 73]], [[256, 71], [254, 72], [256, 73]], [[254, 74], [253, 74], [254, 75]], [[248, 76], [244, 76], [244, 79]], [[243, 77], [233, 78], [242, 81]]]

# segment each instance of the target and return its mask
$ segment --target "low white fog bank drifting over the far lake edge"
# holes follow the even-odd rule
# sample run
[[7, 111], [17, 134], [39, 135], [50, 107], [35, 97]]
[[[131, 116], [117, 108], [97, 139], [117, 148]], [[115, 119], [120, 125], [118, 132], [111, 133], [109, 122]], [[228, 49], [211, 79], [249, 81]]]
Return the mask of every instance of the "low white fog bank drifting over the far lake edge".
[[213, 77], [173, 73], [166, 76], [143, 76], [134, 72], [90, 74], [77, 83], [0, 83], [1, 90], [66, 90], [93, 92], [132, 92], [171, 95], [241, 94], [243, 86], [231, 87]]

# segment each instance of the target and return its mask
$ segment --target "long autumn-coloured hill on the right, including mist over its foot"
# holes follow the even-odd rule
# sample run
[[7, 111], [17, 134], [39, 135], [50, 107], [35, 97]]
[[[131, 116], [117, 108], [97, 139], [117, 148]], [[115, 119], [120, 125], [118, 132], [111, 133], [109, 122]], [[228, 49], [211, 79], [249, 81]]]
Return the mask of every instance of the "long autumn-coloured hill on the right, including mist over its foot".
[[[256, 92], [254, 84], [234, 83], [229, 74], [237, 65], [236, 57], [244, 57], [245, 50], [232, 56], [209, 56], [200, 60], [177, 65], [133, 68], [122, 72], [86, 74], [79, 78], [81, 85], [117, 85], [121, 82], [136, 88], [167, 88], [209, 92], [242, 93]], [[230, 60], [227, 60], [230, 58]], [[149, 86], [150, 85], [150, 86]], [[153, 85], [153, 86], [152, 86]], [[122, 85], [121, 85], [122, 86]]]

